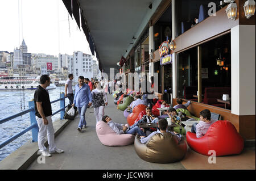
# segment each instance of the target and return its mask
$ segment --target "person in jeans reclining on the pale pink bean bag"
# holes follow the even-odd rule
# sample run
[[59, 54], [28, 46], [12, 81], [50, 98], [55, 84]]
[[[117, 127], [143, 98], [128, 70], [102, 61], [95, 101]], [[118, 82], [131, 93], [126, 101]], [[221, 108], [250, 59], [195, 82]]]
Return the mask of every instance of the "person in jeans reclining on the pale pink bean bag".
[[102, 121], [105, 123], [108, 123], [109, 127], [113, 129], [113, 131], [117, 134], [139, 134], [139, 136], [146, 136], [146, 134], [139, 128], [139, 127], [133, 127], [128, 128], [129, 126], [119, 123], [114, 123], [112, 119], [109, 116], [103, 116]]

